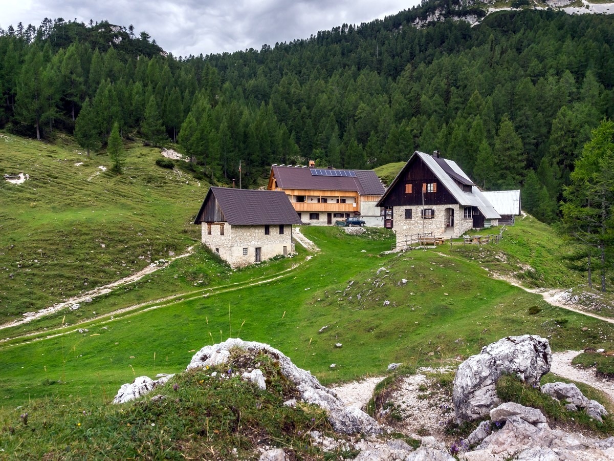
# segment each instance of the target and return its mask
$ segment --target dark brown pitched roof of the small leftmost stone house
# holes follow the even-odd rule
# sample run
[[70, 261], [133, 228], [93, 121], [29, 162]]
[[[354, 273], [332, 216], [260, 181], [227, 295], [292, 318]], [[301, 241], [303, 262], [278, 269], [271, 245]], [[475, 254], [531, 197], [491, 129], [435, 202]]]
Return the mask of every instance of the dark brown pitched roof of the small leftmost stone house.
[[231, 226], [303, 224], [283, 191], [211, 187], [194, 224], [225, 221]]

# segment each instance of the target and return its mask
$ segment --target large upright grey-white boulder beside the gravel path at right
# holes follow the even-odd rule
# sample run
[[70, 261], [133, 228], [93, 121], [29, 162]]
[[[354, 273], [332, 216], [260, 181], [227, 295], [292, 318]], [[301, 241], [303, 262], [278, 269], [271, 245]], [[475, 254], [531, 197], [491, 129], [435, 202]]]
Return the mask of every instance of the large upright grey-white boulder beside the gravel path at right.
[[552, 353], [548, 340], [534, 335], [508, 336], [482, 348], [465, 360], [454, 378], [454, 411], [459, 421], [488, 415], [499, 405], [495, 385], [505, 373], [515, 374], [529, 384], [550, 371]]

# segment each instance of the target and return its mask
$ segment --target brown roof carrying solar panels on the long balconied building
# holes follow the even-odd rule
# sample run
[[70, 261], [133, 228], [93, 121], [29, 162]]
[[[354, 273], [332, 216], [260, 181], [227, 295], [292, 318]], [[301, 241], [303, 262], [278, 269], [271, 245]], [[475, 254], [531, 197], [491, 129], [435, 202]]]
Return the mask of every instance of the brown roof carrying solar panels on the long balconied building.
[[[312, 175], [314, 168], [272, 167], [273, 175], [281, 189], [319, 189], [321, 191], [356, 191], [360, 195], [382, 195], [384, 186], [371, 170], [353, 171], [356, 176]], [[324, 170], [325, 168], [320, 168]], [[333, 171], [340, 171], [334, 170]]]

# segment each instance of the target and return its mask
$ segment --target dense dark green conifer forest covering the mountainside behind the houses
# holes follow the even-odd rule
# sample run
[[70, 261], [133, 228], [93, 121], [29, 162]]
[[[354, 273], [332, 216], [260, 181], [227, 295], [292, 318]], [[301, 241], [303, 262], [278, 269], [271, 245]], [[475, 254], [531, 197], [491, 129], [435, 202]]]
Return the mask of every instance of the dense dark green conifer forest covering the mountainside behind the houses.
[[[0, 36], [0, 128], [177, 142], [195, 173], [255, 185], [273, 163], [375, 168], [438, 149], [486, 189], [523, 187], [556, 219], [590, 130], [614, 115], [614, 17], [499, 12], [411, 24], [432, 7], [306, 40], [173, 57], [147, 33], [45, 20]], [[7, 171], [2, 171], [6, 173]]]

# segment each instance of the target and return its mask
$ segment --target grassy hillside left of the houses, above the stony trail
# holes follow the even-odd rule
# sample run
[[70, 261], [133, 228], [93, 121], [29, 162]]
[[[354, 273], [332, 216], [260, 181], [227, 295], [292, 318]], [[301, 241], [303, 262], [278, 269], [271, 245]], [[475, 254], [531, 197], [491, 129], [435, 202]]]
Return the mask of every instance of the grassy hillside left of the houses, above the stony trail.
[[0, 137], [0, 322], [142, 269], [198, 238], [190, 219], [208, 184], [157, 167], [158, 149], [126, 144], [122, 175], [68, 140]]

